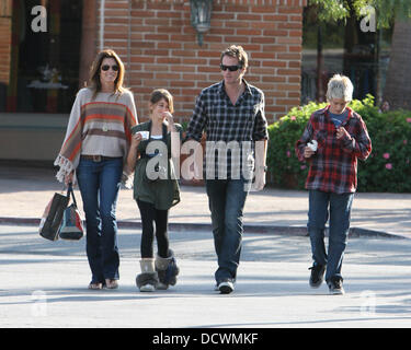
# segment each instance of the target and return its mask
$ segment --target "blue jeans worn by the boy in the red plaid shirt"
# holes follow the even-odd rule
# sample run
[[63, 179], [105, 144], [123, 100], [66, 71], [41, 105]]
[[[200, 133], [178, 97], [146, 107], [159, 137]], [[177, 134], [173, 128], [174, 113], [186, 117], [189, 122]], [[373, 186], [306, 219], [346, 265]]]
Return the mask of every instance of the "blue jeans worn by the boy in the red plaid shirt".
[[[342, 277], [341, 267], [350, 231], [351, 207], [354, 194], [309, 191], [308, 233], [313, 264], [327, 265], [326, 281]], [[330, 209], [329, 209], [330, 208]], [[328, 254], [324, 246], [326, 223], [329, 223]]]

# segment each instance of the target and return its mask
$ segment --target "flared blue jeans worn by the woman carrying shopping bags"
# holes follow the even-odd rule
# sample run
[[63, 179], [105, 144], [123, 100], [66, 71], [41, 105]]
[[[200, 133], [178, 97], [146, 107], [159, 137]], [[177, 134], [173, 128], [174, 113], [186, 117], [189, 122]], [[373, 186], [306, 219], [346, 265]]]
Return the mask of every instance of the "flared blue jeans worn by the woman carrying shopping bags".
[[123, 159], [101, 162], [80, 160], [77, 179], [85, 213], [85, 250], [91, 282], [118, 279], [117, 222], [115, 209], [123, 174]]

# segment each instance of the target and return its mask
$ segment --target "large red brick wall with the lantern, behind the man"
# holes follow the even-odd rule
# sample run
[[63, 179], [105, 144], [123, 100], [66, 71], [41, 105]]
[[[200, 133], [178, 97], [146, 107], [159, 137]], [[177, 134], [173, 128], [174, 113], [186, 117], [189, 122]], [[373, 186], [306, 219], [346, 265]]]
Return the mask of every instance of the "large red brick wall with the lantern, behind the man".
[[189, 0], [105, 0], [104, 9], [101, 1], [98, 43], [126, 63], [140, 120], [156, 88], [173, 94], [175, 117], [187, 120], [199, 91], [221, 79], [219, 55], [231, 44], [249, 54], [246, 79], [264, 91], [270, 122], [299, 104], [306, 0], [215, 0], [203, 46], [190, 22]]

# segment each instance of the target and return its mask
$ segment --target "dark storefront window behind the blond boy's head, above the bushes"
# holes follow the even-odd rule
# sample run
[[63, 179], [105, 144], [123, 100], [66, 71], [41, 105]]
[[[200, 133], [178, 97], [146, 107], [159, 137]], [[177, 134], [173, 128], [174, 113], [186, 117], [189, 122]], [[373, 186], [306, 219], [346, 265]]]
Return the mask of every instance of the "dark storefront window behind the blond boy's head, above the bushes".
[[383, 95], [392, 30], [363, 32], [354, 15], [346, 22], [322, 23], [313, 7], [305, 9], [301, 103], [326, 101], [327, 83], [335, 73], [354, 84], [354, 98]]

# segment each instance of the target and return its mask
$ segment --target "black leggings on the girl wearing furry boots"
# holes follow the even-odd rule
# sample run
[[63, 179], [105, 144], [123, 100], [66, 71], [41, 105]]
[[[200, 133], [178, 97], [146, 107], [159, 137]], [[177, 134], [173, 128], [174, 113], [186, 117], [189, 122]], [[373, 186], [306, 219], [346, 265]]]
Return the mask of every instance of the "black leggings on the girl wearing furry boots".
[[169, 257], [169, 236], [167, 233], [169, 211], [159, 210], [155, 205], [137, 200], [141, 215], [142, 234], [141, 234], [141, 258], [153, 257], [153, 241], [156, 223], [156, 238], [158, 254], [162, 258]]

